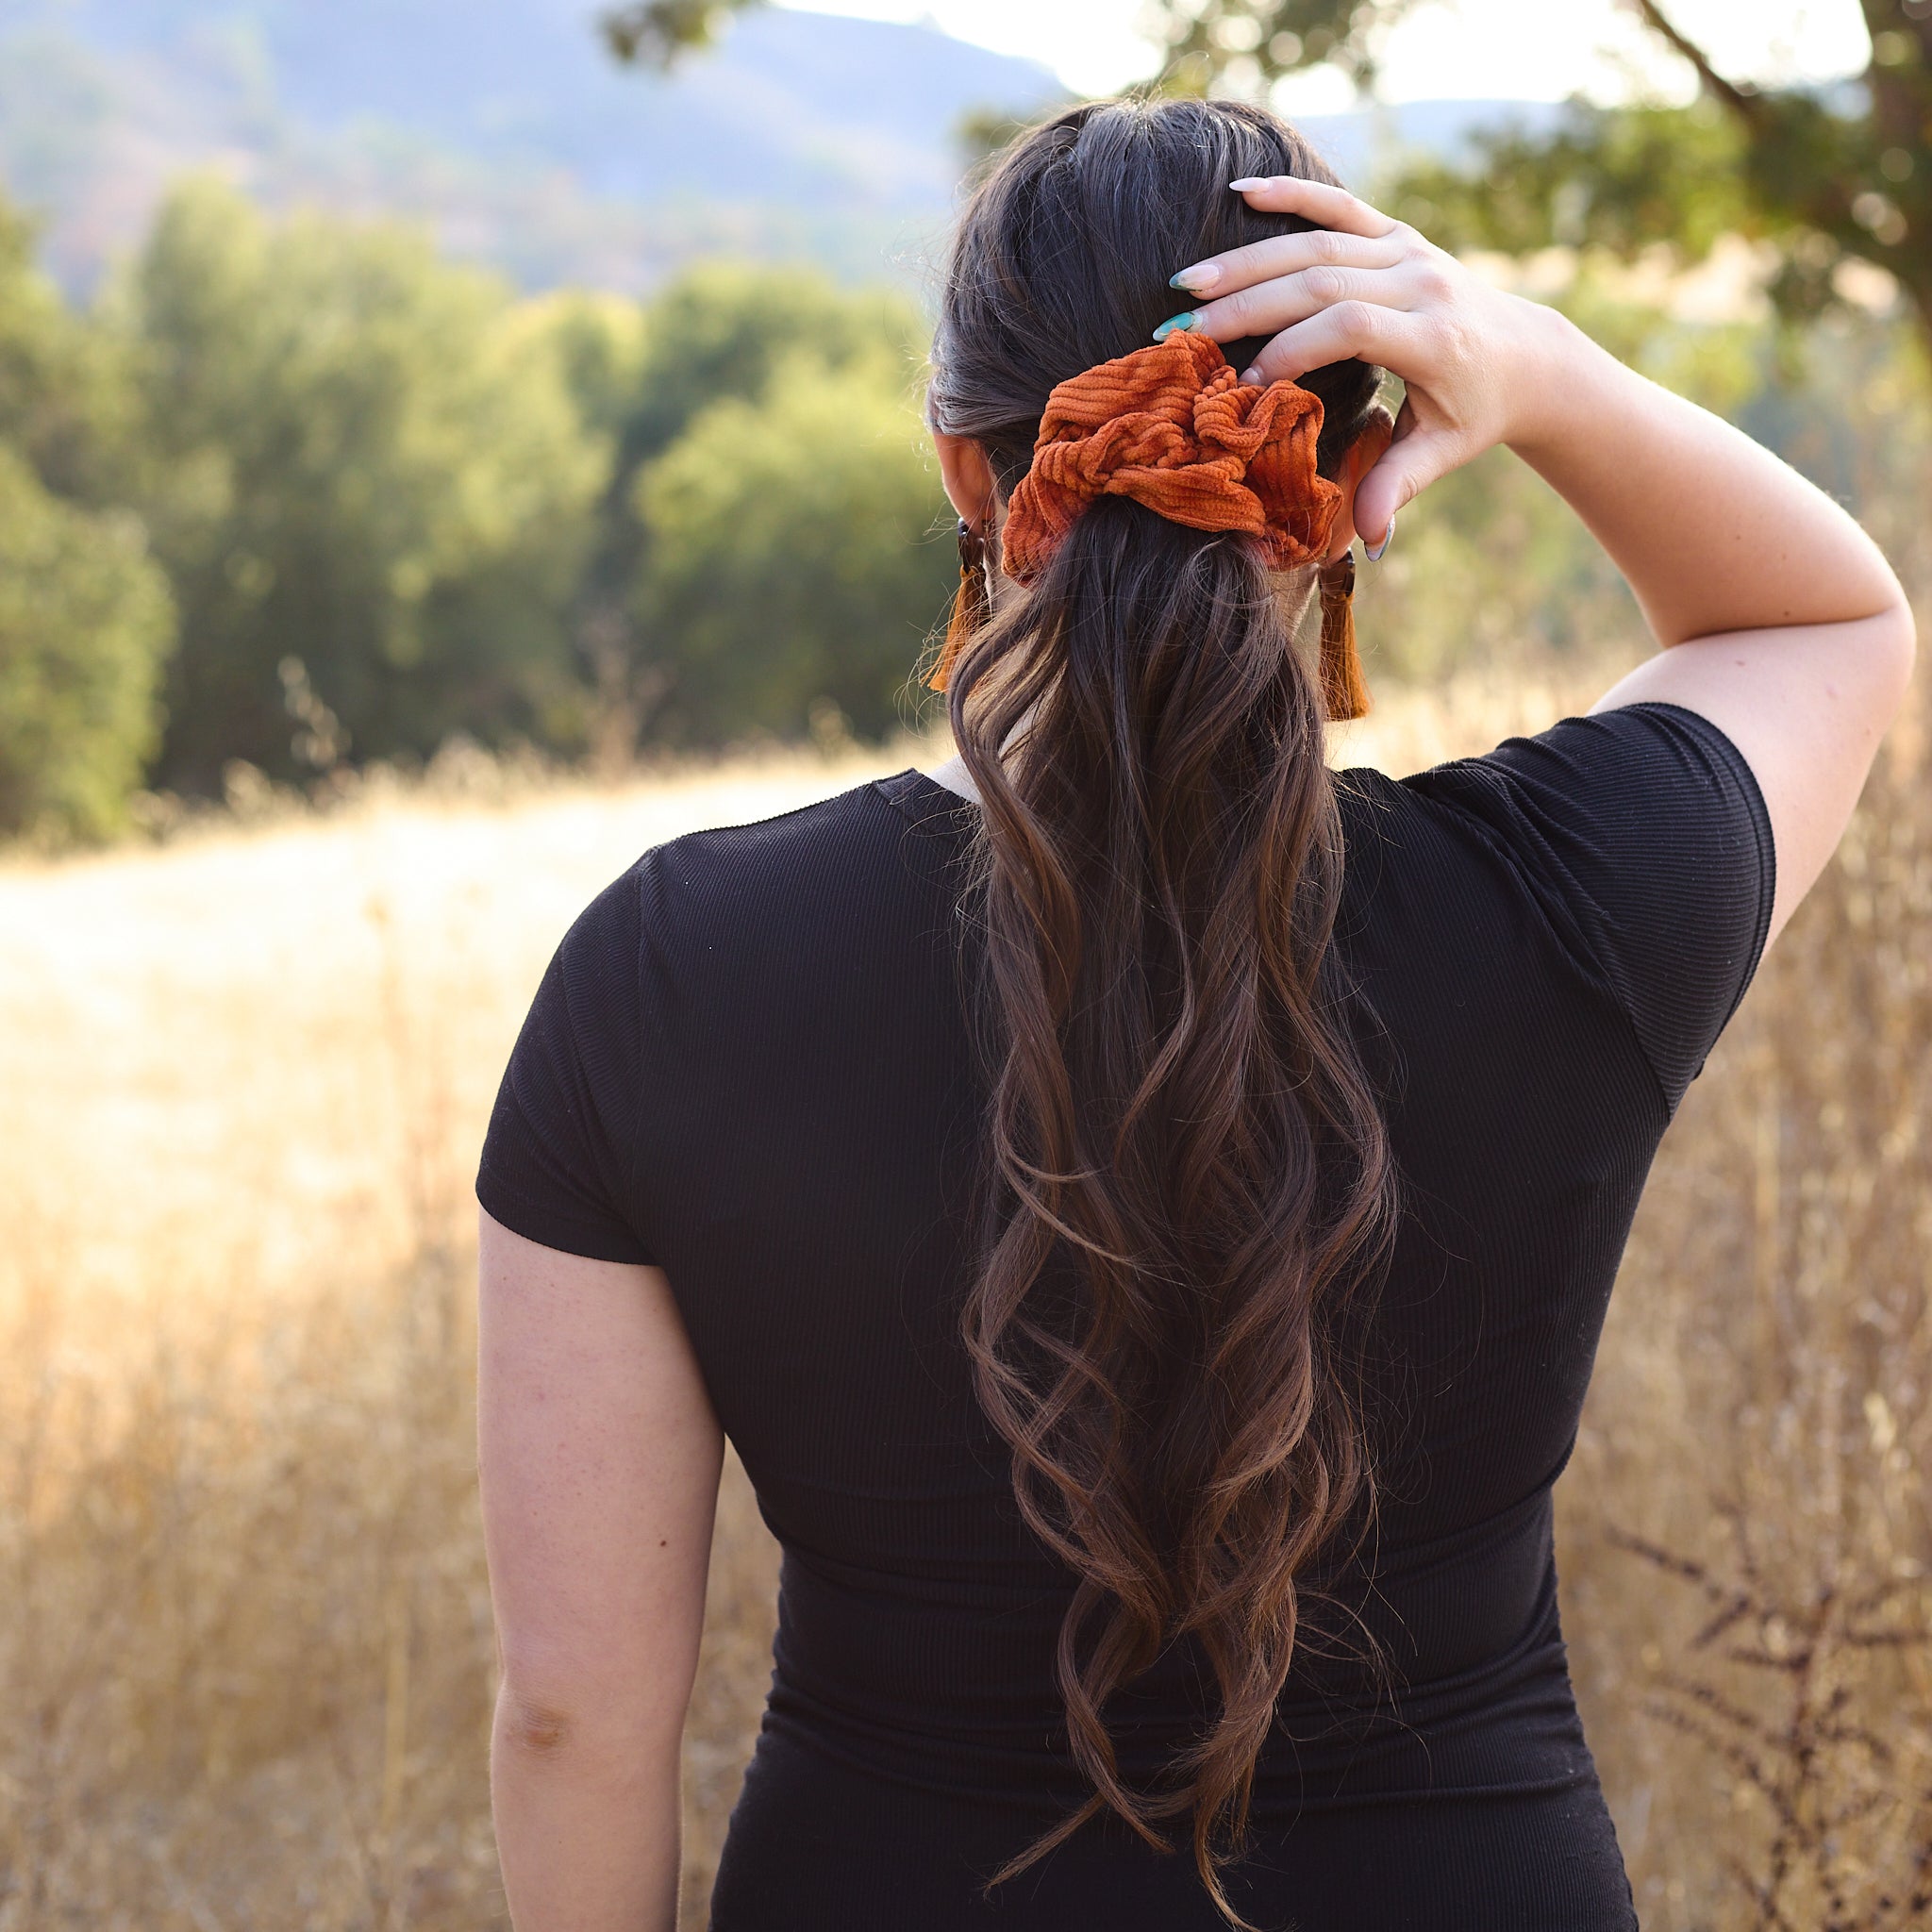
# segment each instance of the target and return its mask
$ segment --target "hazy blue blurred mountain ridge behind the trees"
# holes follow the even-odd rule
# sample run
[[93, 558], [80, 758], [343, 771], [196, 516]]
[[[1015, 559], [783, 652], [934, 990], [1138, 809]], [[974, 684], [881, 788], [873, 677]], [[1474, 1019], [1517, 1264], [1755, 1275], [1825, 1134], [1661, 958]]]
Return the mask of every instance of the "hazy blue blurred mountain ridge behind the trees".
[[[189, 168], [269, 207], [427, 220], [526, 288], [639, 290], [696, 255], [918, 278], [970, 110], [1063, 97], [1030, 60], [777, 8], [668, 75], [618, 68], [597, 0], [0, 0], [0, 184], [73, 292]], [[1323, 116], [1349, 180], [1511, 102]]]

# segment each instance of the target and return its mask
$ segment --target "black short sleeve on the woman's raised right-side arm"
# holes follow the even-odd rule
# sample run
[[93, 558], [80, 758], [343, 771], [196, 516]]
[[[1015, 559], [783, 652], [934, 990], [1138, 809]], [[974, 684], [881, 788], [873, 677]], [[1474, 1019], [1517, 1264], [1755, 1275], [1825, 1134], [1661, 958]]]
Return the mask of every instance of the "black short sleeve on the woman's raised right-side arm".
[[1507, 856], [1623, 1009], [1675, 1109], [1745, 997], [1772, 920], [1772, 825], [1743, 753], [1694, 711], [1644, 703], [1405, 784]]

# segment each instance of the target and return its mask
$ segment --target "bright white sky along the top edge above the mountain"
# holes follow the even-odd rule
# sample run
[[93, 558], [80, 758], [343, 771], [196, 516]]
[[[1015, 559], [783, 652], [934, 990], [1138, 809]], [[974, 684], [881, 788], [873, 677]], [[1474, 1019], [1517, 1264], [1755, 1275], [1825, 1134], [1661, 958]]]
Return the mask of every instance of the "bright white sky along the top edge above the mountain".
[[[1030, 54], [1078, 93], [1099, 95], [1153, 70], [1136, 31], [1144, 0], [796, 0], [867, 19], [933, 19], [960, 41]], [[1861, 71], [1868, 54], [1857, 0], [1669, 0], [1671, 19], [1719, 70], [1739, 79], [1830, 79]], [[1656, 44], [1619, 0], [1422, 0], [1383, 50], [1387, 100], [1600, 100], [1631, 91], [1631, 75], [1689, 99], [1681, 62]], [[1285, 112], [1350, 104], [1333, 71], [1291, 79]]]

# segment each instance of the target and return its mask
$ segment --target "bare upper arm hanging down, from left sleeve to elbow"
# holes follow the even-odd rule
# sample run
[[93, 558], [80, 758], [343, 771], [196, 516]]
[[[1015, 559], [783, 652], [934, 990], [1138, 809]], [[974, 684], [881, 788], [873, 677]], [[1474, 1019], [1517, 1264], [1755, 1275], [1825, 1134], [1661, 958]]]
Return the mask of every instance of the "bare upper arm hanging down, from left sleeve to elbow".
[[676, 1747], [724, 1439], [663, 1271], [481, 1217], [477, 1449], [512, 1690]]

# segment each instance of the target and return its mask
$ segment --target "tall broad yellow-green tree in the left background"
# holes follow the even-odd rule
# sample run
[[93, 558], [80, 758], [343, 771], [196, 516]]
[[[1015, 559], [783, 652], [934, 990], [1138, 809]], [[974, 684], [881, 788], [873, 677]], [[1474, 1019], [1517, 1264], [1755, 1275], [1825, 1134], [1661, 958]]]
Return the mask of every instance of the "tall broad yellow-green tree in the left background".
[[582, 746], [570, 605], [607, 452], [497, 278], [390, 224], [270, 226], [201, 182], [164, 207], [120, 327], [182, 611], [168, 782], [452, 730]]

